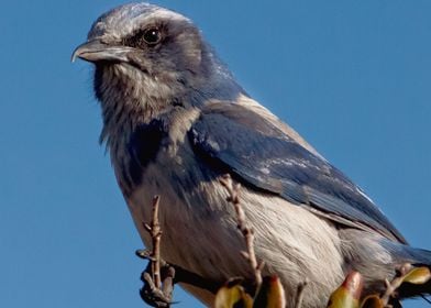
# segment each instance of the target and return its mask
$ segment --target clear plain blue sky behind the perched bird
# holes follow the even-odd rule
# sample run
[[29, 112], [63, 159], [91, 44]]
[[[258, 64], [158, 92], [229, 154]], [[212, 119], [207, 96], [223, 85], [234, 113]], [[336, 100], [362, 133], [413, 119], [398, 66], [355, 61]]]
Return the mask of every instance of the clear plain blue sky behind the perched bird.
[[[120, 3], [2, 2], [0, 307], [143, 307], [91, 66], [69, 62]], [[195, 20], [254, 98], [431, 249], [431, 1], [153, 3]], [[175, 300], [201, 307], [179, 288]]]

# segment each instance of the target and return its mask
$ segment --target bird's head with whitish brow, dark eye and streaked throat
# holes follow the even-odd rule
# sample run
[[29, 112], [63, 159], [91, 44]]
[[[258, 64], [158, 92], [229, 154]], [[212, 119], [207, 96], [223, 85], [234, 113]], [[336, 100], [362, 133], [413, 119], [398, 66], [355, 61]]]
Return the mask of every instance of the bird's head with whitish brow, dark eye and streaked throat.
[[225, 84], [234, 84], [189, 19], [147, 3], [102, 14], [75, 50], [77, 57], [96, 65], [102, 105], [118, 97], [162, 109], [190, 91], [223, 95], [232, 88]]

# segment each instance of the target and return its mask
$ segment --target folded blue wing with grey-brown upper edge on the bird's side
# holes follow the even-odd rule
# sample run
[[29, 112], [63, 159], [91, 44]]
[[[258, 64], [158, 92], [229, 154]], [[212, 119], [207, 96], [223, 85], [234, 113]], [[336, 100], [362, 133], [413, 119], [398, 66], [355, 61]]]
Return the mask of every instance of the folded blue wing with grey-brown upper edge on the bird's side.
[[339, 169], [306, 150], [267, 118], [240, 105], [210, 103], [189, 132], [194, 151], [243, 185], [277, 194], [333, 221], [406, 240]]

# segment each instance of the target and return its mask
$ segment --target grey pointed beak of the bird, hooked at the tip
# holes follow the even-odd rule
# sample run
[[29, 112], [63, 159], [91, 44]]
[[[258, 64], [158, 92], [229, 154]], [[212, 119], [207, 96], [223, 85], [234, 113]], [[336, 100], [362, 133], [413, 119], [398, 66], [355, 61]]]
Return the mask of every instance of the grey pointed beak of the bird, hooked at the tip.
[[71, 62], [75, 62], [77, 57], [92, 63], [100, 61], [128, 62], [128, 53], [131, 50], [131, 47], [111, 46], [99, 40], [91, 40], [76, 47], [71, 54]]

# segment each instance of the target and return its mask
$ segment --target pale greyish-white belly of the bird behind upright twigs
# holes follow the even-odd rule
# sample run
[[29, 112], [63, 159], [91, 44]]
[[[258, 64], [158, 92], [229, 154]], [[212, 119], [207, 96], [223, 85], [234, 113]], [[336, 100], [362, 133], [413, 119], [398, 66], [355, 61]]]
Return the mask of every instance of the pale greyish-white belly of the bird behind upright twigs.
[[[162, 257], [221, 284], [233, 276], [252, 277], [240, 254], [244, 239], [236, 229], [233, 206], [217, 178], [187, 170], [184, 162], [148, 166], [142, 185], [128, 205], [146, 246], [151, 238], [143, 223], [152, 217], [152, 199], [161, 195]], [[305, 307], [325, 307], [327, 295], [343, 279], [338, 231], [309, 210], [269, 195], [242, 188], [247, 223], [255, 230], [255, 252], [265, 262], [264, 275], [280, 277], [291, 304], [297, 286], [309, 280]], [[322, 266], [323, 265], [323, 266]], [[206, 305], [208, 293], [186, 287]]]

